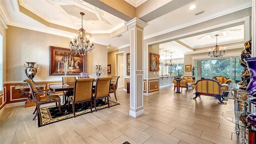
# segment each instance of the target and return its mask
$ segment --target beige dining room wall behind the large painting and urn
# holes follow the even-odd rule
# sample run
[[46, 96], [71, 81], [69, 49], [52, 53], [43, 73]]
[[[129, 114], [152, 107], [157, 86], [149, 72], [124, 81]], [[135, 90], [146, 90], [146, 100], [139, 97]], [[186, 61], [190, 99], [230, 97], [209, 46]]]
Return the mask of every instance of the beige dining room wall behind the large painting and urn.
[[[69, 47], [70, 38], [56, 36], [43, 32], [27, 30], [15, 26], [8, 26], [6, 30], [6, 82], [21, 82], [27, 78], [24, 72], [26, 62], [36, 62], [38, 72], [34, 81], [60, 80], [62, 76], [49, 76], [50, 47]], [[107, 48], [95, 44], [92, 53], [88, 55], [88, 73], [93, 73], [93, 64], [102, 64], [104, 75], [107, 76]], [[35, 65], [36, 65], [35, 64]], [[26, 64], [27, 66], [27, 64]]]

